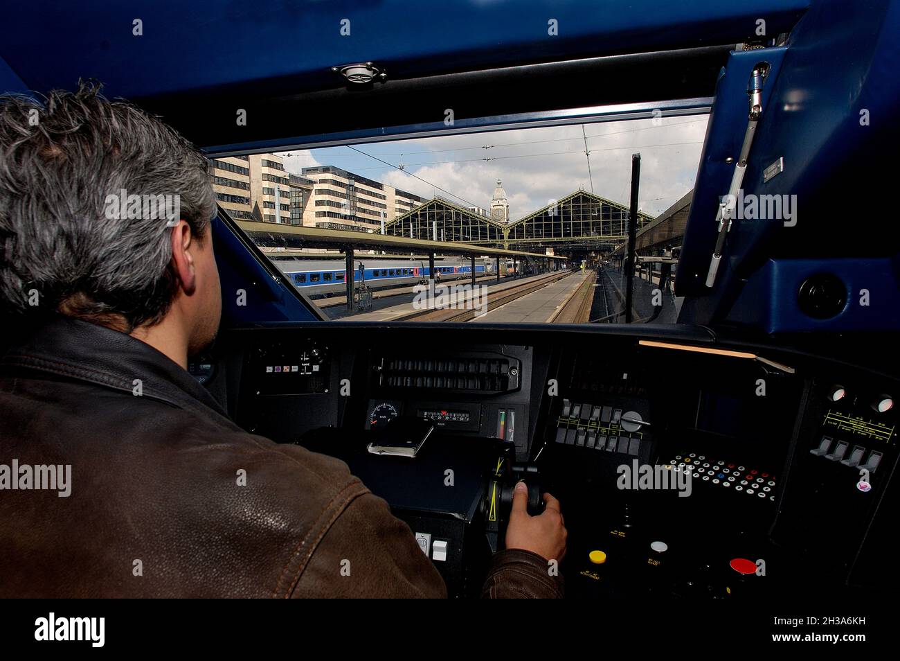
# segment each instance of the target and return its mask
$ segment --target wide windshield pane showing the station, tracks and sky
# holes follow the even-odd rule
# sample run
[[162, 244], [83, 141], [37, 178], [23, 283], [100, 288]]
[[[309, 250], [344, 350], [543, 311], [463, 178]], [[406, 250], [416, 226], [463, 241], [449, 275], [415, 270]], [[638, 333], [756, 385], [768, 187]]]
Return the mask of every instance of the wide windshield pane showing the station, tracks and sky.
[[[373, 182], [377, 186], [367, 184], [365, 191], [380, 191], [374, 199], [381, 200], [378, 195], [390, 191], [387, 199], [398, 200], [398, 204], [388, 204], [382, 231], [361, 218], [328, 211], [333, 200], [324, 196], [321, 204], [314, 202], [317, 218], [323, 219], [317, 224], [327, 230], [358, 232], [361, 241], [354, 246], [353, 258], [357, 269], [365, 263], [366, 276], [355, 282], [382, 293], [375, 310], [337, 301], [321, 304], [321, 312], [329, 319], [415, 321], [417, 287], [434, 278], [440, 280], [442, 290], [452, 292], [446, 299], [448, 320], [460, 319], [462, 306], [473, 310], [475, 316], [484, 314], [482, 321], [498, 323], [525, 319], [672, 323], [680, 312], [674, 280], [707, 119], [704, 113], [662, 118], [648, 113], [646, 118], [626, 121], [598, 118], [598, 122], [492, 134], [482, 131], [367, 143], [365, 153], [356, 155], [352, 164], [347, 164], [345, 146], [293, 149], [290, 157], [286, 152], [276, 156], [284, 158], [285, 169], [295, 176], [332, 186], [335, 182], [349, 186], [351, 180]], [[491, 177], [471, 168], [464, 158], [473, 153], [470, 149], [482, 149], [486, 141], [491, 144], [491, 156], [503, 158], [493, 161], [492, 165], [500, 165]], [[586, 157], [586, 147], [590, 156], [598, 153], [596, 161]], [[395, 152], [416, 156], [401, 172], [391, 164]], [[637, 259], [633, 285], [628, 287], [626, 238], [635, 152], [642, 156], [642, 167], [635, 228]], [[590, 168], [586, 158], [590, 158]], [[294, 165], [304, 162], [323, 166]], [[440, 162], [441, 168], [429, 165], [434, 162]], [[317, 186], [311, 195], [329, 193], [320, 193]], [[320, 207], [323, 211], [318, 211]], [[287, 227], [281, 230], [277, 225], [266, 230], [267, 234], [279, 231], [290, 234]], [[429, 250], [436, 241], [445, 244], [446, 250], [434, 253], [431, 267]], [[264, 252], [283, 270], [320, 268], [321, 273], [309, 276], [310, 283], [321, 283], [321, 289], [329, 290], [333, 287], [325, 283], [346, 279], [340, 273], [347, 258], [342, 249], [336, 239], [333, 246], [305, 248], [294, 243], [291, 256], [278, 249]], [[485, 252], [480, 254], [480, 249]], [[507, 253], [498, 254], [497, 249]], [[414, 275], [411, 287], [410, 280], [383, 279]], [[536, 283], [540, 283], [537, 289]], [[391, 292], [393, 288], [396, 291]], [[626, 314], [628, 290], [633, 298]], [[310, 291], [315, 294], [315, 287]], [[313, 304], [346, 292], [321, 294], [324, 298], [317, 297]], [[510, 300], [510, 294], [512, 299], [521, 297], [522, 303], [489, 304], [495, 296]], [[548, 308], [548, 296], [563, 305]], [[523, 307], [532, 303], [531, 312]], [[426, 308], [423, 319], [441, 318], [433, 305]]]

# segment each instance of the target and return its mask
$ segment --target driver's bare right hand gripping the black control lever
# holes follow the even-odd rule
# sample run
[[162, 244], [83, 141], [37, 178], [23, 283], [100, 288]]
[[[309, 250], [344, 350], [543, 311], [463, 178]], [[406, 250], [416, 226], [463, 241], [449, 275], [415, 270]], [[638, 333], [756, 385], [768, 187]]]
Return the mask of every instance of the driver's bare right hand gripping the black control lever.
[[544, 513], [529, 516], [528, 487], [516, 484], [512, 494], [512, 513], [509, 514], [506, 548], [522, 548], [547, 560], [562, 560], [565, 555], [565, 530], [560, 502], [549, 493], [544, 494]]

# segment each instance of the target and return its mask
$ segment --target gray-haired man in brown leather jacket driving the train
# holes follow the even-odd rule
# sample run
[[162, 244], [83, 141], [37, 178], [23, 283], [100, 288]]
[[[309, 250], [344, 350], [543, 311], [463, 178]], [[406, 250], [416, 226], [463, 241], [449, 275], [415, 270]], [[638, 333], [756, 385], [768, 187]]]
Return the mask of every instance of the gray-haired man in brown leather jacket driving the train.
[[[72, 466], [66, 498], [0, 480], [0, 597], [444, 596], [345, 464], [187, 373], [219, 326], [215, 213], [202, 154], [99, 86], [0, 96], [0, 457]], [[530, 517], [522, 486], [482, 593], [560, 596], [559, 503]]]

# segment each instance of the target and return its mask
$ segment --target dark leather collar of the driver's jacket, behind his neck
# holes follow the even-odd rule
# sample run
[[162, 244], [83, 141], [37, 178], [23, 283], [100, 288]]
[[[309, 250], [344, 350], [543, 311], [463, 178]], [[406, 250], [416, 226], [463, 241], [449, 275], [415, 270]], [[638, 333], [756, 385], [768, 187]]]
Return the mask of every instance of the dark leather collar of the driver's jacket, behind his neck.
[[228, 419], [209, 391], [165, 354], [130, 335], [87, 321], [56, 317], [7, 349], [0, 364], [129, 394], [137, 394], [139, 385], [141, 396], [181, 409], [211, 409]]

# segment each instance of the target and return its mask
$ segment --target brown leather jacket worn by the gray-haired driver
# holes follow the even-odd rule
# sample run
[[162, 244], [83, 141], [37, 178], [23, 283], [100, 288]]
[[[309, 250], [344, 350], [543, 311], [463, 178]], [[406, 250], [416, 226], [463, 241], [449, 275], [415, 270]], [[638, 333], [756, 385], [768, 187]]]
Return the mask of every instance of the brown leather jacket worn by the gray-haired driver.
[[[68, 483], [28, 489], [22, 466], [49, 465]], [[0, 360], [0, 575], [0, 597], [446, 596], [346, 464], [248, 434], [156, 349], [67, 319]], [[483, 594], [561, 585], [508, 550]]]

